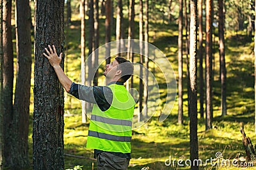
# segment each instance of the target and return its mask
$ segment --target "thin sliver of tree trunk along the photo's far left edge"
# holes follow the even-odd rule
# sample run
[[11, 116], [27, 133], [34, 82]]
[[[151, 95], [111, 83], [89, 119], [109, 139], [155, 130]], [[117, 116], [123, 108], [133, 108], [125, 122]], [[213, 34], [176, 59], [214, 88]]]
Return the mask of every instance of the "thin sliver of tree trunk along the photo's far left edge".
[[4, 163], [4, 106], [3, 106], [3, 1], [0, 1], [0, 170]]

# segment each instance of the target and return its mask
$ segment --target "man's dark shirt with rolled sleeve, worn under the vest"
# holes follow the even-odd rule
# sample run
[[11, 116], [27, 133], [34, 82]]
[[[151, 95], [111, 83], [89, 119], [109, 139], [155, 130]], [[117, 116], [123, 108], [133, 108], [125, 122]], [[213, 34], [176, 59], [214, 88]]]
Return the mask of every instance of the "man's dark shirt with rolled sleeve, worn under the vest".
[[[116, 83], [117, 85], [124, 85], [120, 81], [113, 81], [108, 85]], [[97, 104], [101, 111], [106, 111], [111, 106], [113, 100], [113, 92], [108, 86], [92, 86], [88, 87], [86, 85], [79, 85], [77, 83], [72, 83], [69, 94], [76, 97], [77, 99], [86, 101], [88, 103]], [[102, 150], [94, 150], [95, 156], [102, 152]], [[119, 157], [125, 157], [131, 159], [131, 153], [120, 153], [120, 152], [109, 152], [117, 155]]]

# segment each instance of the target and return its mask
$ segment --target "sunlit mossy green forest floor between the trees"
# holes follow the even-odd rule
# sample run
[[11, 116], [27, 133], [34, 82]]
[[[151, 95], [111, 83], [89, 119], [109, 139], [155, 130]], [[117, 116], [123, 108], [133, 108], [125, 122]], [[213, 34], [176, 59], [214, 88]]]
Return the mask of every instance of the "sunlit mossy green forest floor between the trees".
[[[103, 20], [100, 22], [100, 44], [104, 44]], [[88, 24], [86, 24], [88, 26]], [[138, 24], [136, 24], [136, 28]], [[138, 29], [136, 29], [138, 30]], [[150, 43], [157, 46], [172, 63], [173, 70], [178, 77], [177, 63], [177, 25], [150, 23]], [[156, 39], [154, 31], [156, 30]], [[68, 45], [66, 58], [68, 76], [78, 82], [80, 80], [80, 34], [79, 21], [73, 21], [68, 31], [66, 43]], [[217, 34], [217, 33], [216, 33]], [[137, 38], [137, 37], [136, 37]], [[112, 38], [115, 40], [115, 37]], [[214, 83], [213, 110], [214, 129], [205, 131], [205, 121], [198, 114], [198, 152], [202, 160], [200, 169], [256, 169], [256, 162], [236, 167], [232, 160], [245, 157], [240, 132], [240, 123], [244, 123], [244, 131], [256, 144], [254, 132], [254, 57], [253, 39], [246, 35], [226, 34], [226, 66], [227, 66], [227, 116], [221, 117], [220, 110], [220, 76], [218, 43], [214, 42]], [[136, 60], [136, 59], [135, 59]], [[132, 159], [129, 169], [189, 169], [189, 117], [188, 96], [186, 90], [186, 55], [184, 55], [184, 124], [177, 124], [178, 102], [164, 122], [158, 121], [159, 115], [154, 115], [132, 135]], [[33, 87], [33, 77], [32, 77]], [[101, 81], [101, 79], [100, 79]], [[31, 88], [32, 89], [32, 88]], [[166, 89], [161, 89], [166, 93]], [[164, 104], [165, 98], [159, 103]], [[198, 100], [198, 111], [200, 105]], [[31, 90], [31, 124], [29, 131], [29, 157], [32, 162], [32, 120], [33, 91]], [[88, 124], [81, 122], [81, 103], [75, 97], [65, 97], [65, 169], [97, 169], [93, 159], [93, 150], [86, 148]], [[70, 157], [70, 155], [76, 157]], [[216, 159], [222, 155], [220, 159]], [[80, 156], [80, 157], [79, 157]], [[183, 160], [179, 162], [178, 160]], [[211, 162], [212, 160], [212, 162]], [[220, 160], [230, 162], [220, 164]], [[219, 162], [218, 162], [219, 161]], [[174, 165], [174, 166], [173, 166]], [[183, 166], [182, 166], [183, 165]], [[83, 166], [83, 167], [82, 167]]]

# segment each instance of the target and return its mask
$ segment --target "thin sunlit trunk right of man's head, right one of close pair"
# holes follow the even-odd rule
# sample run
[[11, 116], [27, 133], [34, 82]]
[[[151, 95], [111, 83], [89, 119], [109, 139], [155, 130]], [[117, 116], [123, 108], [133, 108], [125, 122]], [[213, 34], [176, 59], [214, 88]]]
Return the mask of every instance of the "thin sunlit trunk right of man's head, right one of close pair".
[[144, 88], [143, 88], [143, 117], [148, 117], [148, 0], [145, 0], [145, 78], [144, 78]]

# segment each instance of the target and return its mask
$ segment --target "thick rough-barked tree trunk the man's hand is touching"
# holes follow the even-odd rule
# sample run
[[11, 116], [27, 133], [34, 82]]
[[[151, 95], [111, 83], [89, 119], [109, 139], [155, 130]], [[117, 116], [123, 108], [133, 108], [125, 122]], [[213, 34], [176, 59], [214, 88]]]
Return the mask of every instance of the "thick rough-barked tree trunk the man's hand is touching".
[[33, 169], [64, 169], [63, 87], [43, 55], [47, 45], [55, 45], [58, 55], [63, 53], [64, 1], [36, 3]]

